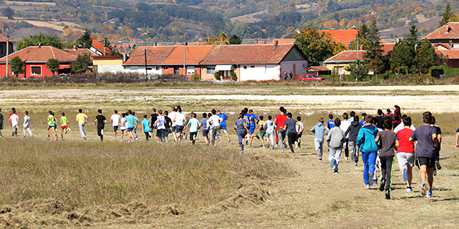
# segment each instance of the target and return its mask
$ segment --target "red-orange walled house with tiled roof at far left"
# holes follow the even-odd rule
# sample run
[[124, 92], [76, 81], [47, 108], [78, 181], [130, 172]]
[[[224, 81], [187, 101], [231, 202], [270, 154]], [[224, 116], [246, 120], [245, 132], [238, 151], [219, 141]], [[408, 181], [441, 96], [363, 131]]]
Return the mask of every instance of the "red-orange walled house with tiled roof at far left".
[[[58, 74], [70, 74], [70, 64], [77, 60], [77, 56], [51, 46], [29, 46], [11, 53], [8, 57], [8, 62], [11, 62], [16, 56], [19, 56], [24, 61], [24, 74], [20, 74], [19, 78], [52, 76], [53, 73], [46, 67], [46, 62], [53, 58], [61, 62]], [[8, 67], [11, 69], [11, 65], [8, 65]], [[14, 74], [11, 71], [9, 72], [12, 75]], [[0, 77], [5, 77], [5, 75], [6, 56], [0, 58]]]

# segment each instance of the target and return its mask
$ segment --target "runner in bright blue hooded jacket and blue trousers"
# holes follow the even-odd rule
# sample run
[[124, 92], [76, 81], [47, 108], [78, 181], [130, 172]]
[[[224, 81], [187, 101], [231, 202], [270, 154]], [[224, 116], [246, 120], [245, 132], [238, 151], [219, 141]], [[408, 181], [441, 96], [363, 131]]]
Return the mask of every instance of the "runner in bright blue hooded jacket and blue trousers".
[[376, 146], [376, 135], [378, 128], [371, 124], [373, 116], [365, 116], [365, 126], [360, 128], [357, 135], [357, 146], [362, 152], [362, 161], [364, 162], [364, 183], [369, 189], [373, 185], [373, 174], [375, 173], [376, 157], [378, 156], [378, 146]]

